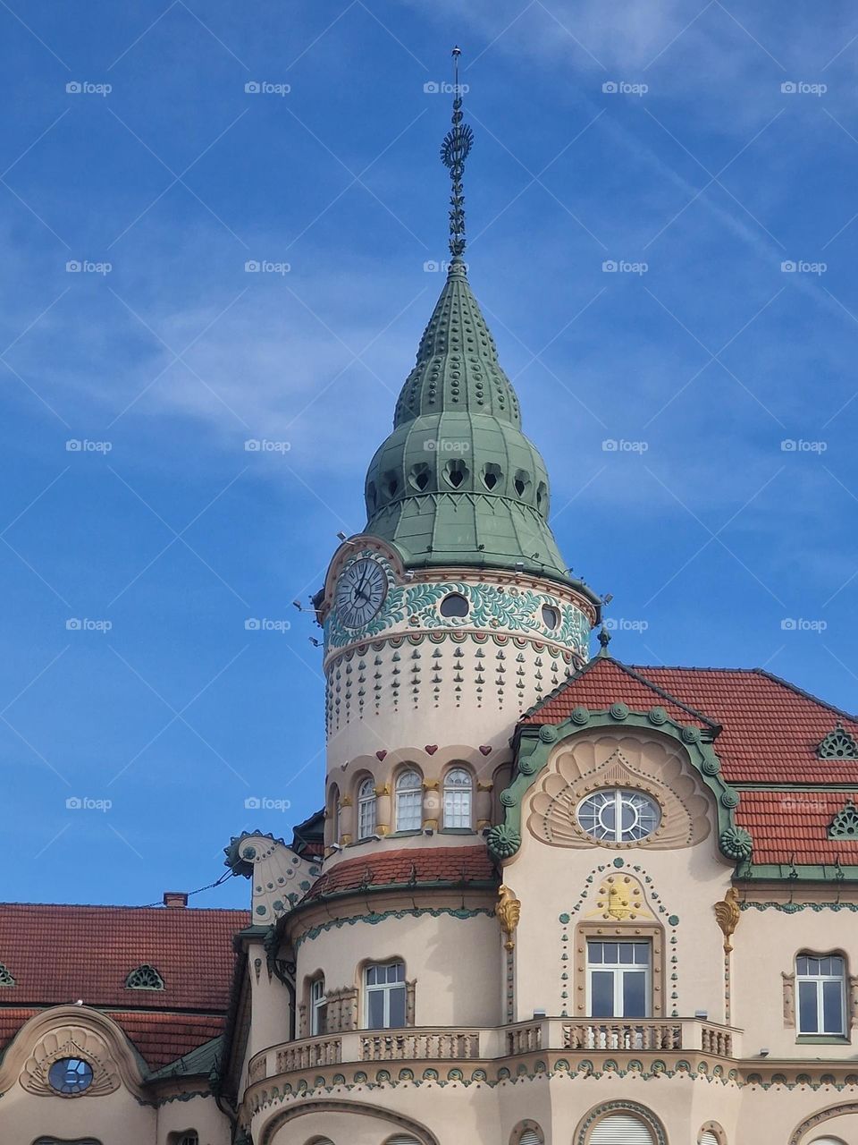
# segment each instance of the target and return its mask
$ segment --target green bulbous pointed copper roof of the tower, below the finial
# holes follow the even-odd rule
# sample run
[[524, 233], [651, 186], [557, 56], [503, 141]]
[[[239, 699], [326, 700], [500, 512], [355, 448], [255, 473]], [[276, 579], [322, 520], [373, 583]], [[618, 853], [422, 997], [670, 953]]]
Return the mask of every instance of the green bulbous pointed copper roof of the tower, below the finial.
[[364, 531], [394, 545], [406, 568], [521, 567], [579, 583], [548, 524], [548, 473], [522, 433], [518, 398], [461, 259], [451, 263], [365, 491]]

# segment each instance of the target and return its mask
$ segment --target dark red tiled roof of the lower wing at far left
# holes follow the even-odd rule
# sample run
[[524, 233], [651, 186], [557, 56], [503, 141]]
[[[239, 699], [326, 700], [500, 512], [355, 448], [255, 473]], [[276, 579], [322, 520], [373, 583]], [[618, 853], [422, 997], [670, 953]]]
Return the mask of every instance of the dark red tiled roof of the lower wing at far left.
[[[37, 1009], [77, 1002], [109, 1012], [151, 1067], [223, 1030], [246, 910], [0, 903], [0, 962], [15, 986], [0, 990], [0, 1048]], [[125, 986], [146, 963], [162, 990]]]

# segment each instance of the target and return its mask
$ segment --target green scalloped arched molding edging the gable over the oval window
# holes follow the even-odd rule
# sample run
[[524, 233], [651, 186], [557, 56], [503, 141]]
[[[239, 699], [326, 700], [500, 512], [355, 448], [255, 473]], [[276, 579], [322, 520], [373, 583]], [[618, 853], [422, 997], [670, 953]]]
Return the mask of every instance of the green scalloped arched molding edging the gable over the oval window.
[[[615, 701], [607, 709], [601, 710], [575, 708], [569, 719], [556, 725], [524, 724], [519, 726], [516, 735], [517, 774], [510, 785], [500, 793], [500, 802], [506, 808], [503, 824], [501, 824], [505, 828], [505, 846], [509, 847], [516, 837], [519, 840], [518, 845], [521, 845], [524, 795], [533, 785], [539, 773], [548, 765], [548, 759], [556, 744], [571, 739], [585, 727], [588, 732], [596, 728], [615, 731], [618, 727], [637, 727], [650, 733], [654, 728], [659, 734], [669, 736], [682, 744], [692, 766], [715, 797], [718, 815], [718, 843], [722, 853], [728, 859], [736, 861], [739, 856], [731, 853], [730, 850], [725, 850], [725, 846], [731, 847], [732, 851], [747, 848], [745, 836], [748, 832], [738, 828], [733, 818], [740, 795], [721, 777], [721, 760], [713, 747], [715, 729], [710, 727], [699, 728], [691, 724], [677, 724], [667, 717], [664, 708], [634, 711], [621, 701]], [[493, 830], [498, 831], [499, 828], [493, 828]], [[642, 846], [645, 845], [645, 843], [642, 844]], [[491, 850], [491, 838], [488, 846]], [[515, 850], [517, 851], [518, 847]], [[493, 853], [498, 858], [508, 859], [515, 854], [515, 851], [509, 851], [503, 855], [496, 851]]]

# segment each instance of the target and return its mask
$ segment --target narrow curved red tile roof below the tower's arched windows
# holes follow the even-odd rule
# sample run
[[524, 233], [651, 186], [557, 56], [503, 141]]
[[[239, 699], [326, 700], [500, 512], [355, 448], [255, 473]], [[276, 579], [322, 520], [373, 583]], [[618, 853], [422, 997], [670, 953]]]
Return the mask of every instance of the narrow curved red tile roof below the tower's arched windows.
[[421, 847], [345, 859], [325, 871], [304, 901], [363, 886], [462, 882], [496, 882], [492, 860], [482, 840], [468, 847]]

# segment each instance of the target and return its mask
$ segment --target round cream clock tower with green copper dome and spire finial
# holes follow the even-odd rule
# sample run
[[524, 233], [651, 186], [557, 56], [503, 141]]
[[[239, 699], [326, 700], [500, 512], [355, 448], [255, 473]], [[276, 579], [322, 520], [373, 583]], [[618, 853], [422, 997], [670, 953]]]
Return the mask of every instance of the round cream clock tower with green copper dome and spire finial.
[[471, 140], [456, 85], [442, 148], [447, 278], [370, 463], [366, 526], [336, 551], [315, 599], [329, 856], [390, 847], [390, 836], [476, 843], [498, 821], [518, 719], [582, 666], [599, 618], [599, 598], [558, 551], [545, 463], [469, 284]]

